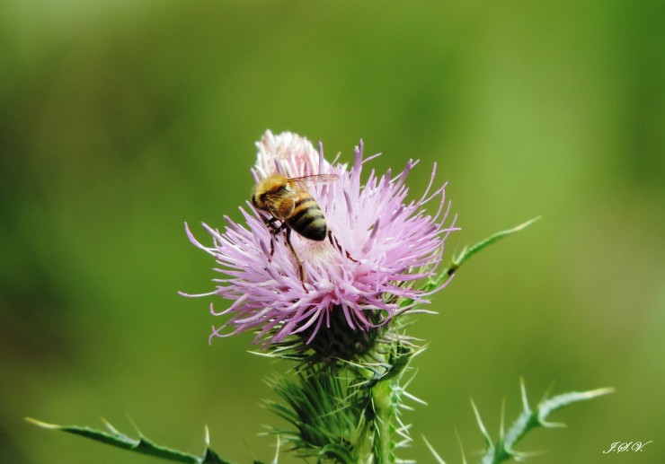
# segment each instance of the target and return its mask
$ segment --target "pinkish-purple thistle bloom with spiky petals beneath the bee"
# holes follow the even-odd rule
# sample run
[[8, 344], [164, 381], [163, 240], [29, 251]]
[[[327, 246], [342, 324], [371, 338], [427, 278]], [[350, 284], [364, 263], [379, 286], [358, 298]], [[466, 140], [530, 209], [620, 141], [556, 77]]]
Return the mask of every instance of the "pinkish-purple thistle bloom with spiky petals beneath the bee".
[[[362, 141], [350, 169], [326, 162], [321, 144], [317, 152], [306, 138], [290, 132], [274, 136], [267, 131], [257, 147], [255, 182], [276, 171], [288, 178], [336, 175], [332, 182], [307, 188], [323, 210], [335, 243], [291, 233], [305, 271], [303, 282], [285, 232], [275, 234], [266, 224], [270, 215], [249, 202], [240, 207], [242, 223], [225, 216], [224, 232], [203, 224], [212, 237], [211, 246], [197, 241], [185, 224], [191, 242], [216, 258], [216, 270], [223, 275], [214, 280], [217, 289], [204, 295], [217, 294], [232, 302], [221, 312], [211, 307], [214, 315], [231, 317], [223, 326], [213, 327], [210, 337], [256, 330], [254, 343], [264, 340], [268, 345], [306, 331], [309, 344], [322, 326], [331, 327], [332, 320], [345, 321], [350, 330], [367, 331], [426, 302], [429, 293], [415, 283], [435, 275], [443, 243], [449, 232], [457, 230], [455, 220], [444, 226], [449, 210], [445, 185], [429, 193], [436, 165], [425, 194], [407, 203], [404, 181], [417, 162], [409, 161], [395, 176], [371, 171], [363, 185], [363, 165], [377, 155], [363, 159]], [[439, 200], [432, 216], [423, 206], [435, 197]], [[403, 299], [412, 304], [400, 306]], [[335, 312], [343, 318], [333, 317]]]

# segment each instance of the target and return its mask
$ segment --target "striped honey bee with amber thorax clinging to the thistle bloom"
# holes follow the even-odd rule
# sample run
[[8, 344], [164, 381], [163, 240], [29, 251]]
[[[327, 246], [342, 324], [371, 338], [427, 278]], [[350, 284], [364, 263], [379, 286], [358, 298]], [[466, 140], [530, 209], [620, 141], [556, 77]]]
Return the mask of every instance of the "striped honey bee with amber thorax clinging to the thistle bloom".
[[[252, 189], [252, 204], [257, 209], [270, 213], [266, 224], [272, 229], [273, 235], [286, 229], [288, 248], [296, 258], [298, 274], [305, 285], [305, 271], [296, 250], [291, 245], [291, 230], [313, 241], [324, 241], [326, 237], [332, 241], [332, 233], [328, 230], [321, 206], [307, 191], [307, 185], [326, 184], [337, 180], [336, 174], [318, 174], [297, 178], [287, 178], [283, 174], [272, 174], [262, 179]], [[281, 221], [277, 225], [275, 222]], [[339, 244], [337, 244], [339, 247]], [[274, 243], [270, 241], [270, 256], [274, 253]], [[348, 255], [348, 253], [347, 253]]]

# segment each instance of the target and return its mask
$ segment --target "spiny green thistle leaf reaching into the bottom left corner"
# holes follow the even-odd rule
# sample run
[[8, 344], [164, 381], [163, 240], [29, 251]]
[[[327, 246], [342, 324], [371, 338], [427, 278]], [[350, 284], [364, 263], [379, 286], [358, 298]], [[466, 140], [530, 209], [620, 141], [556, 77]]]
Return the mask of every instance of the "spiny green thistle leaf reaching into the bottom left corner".
[[[154, 456], [155, 458], [162, 458], [164, 460], [171, 460], [174, 462], [188, 462], [191, 464], [231, 464], [227, 460], [221, 459], [215, 451], [208, 446], [208, 430], [206, 430], [206, 451], [202, 456], [195, 456], [182, 451], [172, 450], [164, 446], [160, 446], [148, 440], [145, 437], [131, 438], [124, 433], [118, 432], [111, 424], [104, 421], [104, 425], [109, 429], [109, 432], [101, 430], [93, 430], [89, 427], [79, 427], [77, 425], [54, 425], [26, 417], [28, 422], [40, 427], [50, 430], [60, 430], [62, 432], [74, 433], [86, 438], [90, 438], [97, 442], [110, 444], [122, 448], [123, 450], [134, 451], [139, 454], [146, 454]], [[259, 464], [259, 463], [256, 463]]]

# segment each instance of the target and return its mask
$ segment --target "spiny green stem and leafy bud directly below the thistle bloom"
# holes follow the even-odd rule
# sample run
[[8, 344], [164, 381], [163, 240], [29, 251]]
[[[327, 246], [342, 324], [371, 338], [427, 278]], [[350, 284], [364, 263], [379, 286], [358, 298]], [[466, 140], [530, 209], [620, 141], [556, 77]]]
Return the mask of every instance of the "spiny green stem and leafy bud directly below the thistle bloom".
[[[286, 404], [267, 401], [271, 411], [295, 427], [273, 428], [287, 451], [318, 462], [396, 462], [395, 449], [409, 442], [400, 420], [401, 380], [421, 350], [394, 343], [379, 345], [370, 363], [339, 361], [300, 370], [296, 379], [274, 378], [270, 387]], [[399, 441], [395, 441], [395, 437]]]

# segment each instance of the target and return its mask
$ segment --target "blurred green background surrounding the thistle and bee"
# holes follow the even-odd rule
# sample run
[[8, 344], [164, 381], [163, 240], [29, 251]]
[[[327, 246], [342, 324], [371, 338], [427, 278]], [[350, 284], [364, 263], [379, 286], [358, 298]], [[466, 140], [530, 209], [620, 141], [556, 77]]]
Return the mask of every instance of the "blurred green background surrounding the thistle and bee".
[[[0, 6], [0, 461], [148, 463], [23, 421], [101, 425], [269, 460], [263, 379], [288, 366], [209, 328], [212, 260], [183, 223], [238, 219], [254, 141], [292, 130], [379, 171], [439, 163], [472, 259], [412, 334], [404, 458], [483, 447], [468, 398], [613, 386], [531, 462], [663, 462], [665, 14], [628, 1], [8, 1]], [[332, 157], [332, 156], [331, 156]], [[217, 302], [217, 308], [225, 302]], [[653, 442], [605, 455], [616, 441]], [[282, 462], [293, 462], [285, 458]], [[474, 462], [474, 456], [470, 456]]]

